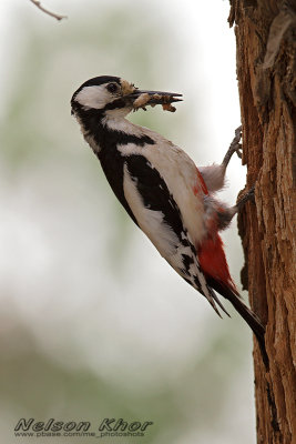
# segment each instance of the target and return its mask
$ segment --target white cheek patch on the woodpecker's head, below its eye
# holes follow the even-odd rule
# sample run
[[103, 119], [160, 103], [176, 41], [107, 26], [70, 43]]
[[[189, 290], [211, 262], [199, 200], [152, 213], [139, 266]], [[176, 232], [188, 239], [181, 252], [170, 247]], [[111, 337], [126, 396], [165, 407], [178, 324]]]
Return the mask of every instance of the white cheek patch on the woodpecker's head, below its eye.
[[106, 84], [108, 83], [100, 84], [99, 87], [84, 87], [75, 97], [75, 101], [79, 102], [85, 110], [103, 109], [109, 102], [112, 102], [111, 94], [105, 88]]

